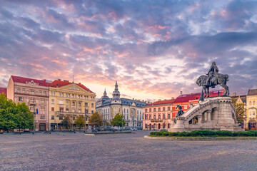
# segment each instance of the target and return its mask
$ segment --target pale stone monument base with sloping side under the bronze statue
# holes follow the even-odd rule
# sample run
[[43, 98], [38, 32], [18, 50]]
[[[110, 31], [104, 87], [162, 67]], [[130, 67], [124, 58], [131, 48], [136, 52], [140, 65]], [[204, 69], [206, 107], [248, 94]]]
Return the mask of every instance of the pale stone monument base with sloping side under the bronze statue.
[[244, 131], [236, 121], [236, 110], [230, 97], [206, 98], [178, 118], [171, 119], [169, 132], [193, 130]]

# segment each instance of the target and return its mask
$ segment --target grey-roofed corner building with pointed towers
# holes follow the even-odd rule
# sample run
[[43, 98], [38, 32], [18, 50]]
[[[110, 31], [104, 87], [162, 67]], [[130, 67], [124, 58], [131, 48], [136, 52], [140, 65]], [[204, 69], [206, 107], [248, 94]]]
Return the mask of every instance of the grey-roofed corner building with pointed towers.
[[105, 90], [104, 96], [96, 102], [96, 111], [101, 115], [104, 126], [111, 123], [115, 115], [120, 113], [126, 121], [124, 126], [143, 128], [143, 107], [146, 103], [140, 100], [120, 98], [117, 82], [112, 95], [113, 97], [109, 98]]

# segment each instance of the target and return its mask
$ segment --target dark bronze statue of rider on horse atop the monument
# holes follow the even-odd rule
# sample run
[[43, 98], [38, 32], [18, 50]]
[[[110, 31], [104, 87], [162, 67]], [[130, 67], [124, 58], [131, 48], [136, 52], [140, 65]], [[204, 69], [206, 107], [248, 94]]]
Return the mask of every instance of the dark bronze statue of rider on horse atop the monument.
[[202, 86], [204, 90], [203, 95], [205, 98], [209, 97], [209, 88], [215, 88], [215, 86], [220, 85], [225, 89], [224, 96], [229, 95], [228, 86], [226, 83], [228, 82], [228, 74], [221, 74], [218, 73], [218, 67], [216, 66], [215, 62], [212, 62], [211, 68], [209, 69], [206, 75], [199, 76], [196, 81], [198, 86]]

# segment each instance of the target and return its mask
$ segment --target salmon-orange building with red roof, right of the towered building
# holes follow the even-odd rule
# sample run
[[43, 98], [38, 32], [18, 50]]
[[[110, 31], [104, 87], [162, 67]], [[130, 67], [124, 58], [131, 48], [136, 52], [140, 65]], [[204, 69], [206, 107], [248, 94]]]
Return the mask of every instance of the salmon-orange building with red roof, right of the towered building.
[[143, 130], [168, 129], [171, 125], [172, 104], [175, 99], [159, 100], [143, 107]]

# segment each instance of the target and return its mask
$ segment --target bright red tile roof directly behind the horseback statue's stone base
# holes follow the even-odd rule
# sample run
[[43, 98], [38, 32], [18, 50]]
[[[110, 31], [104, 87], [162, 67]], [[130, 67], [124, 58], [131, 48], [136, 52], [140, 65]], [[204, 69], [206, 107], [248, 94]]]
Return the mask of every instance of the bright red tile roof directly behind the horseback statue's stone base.
[[[210, 91], [210, 98], [218, 96], [218, 91], [219, 95], [223, 95], [224, 90], [213, 90]], [[184, 95], [179, 95], [174, 103], [183, 103], [183, 102], [188, 102], [190, 100], [199, 100], [201, 93], [191, 93], [191, 94], [184, 94]]]

